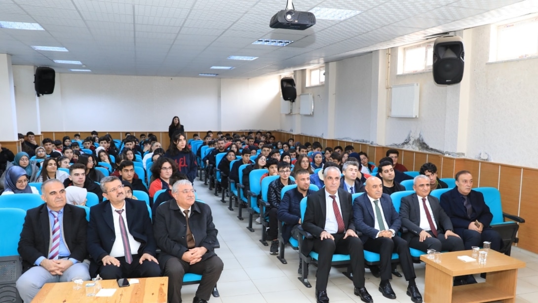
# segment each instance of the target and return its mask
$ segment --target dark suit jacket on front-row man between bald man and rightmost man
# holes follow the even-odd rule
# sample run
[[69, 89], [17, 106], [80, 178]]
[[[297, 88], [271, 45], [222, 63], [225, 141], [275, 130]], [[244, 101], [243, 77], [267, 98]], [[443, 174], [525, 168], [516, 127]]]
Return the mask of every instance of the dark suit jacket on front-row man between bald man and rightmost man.
[[[454, 229], [454, 227], [452, 227], [450, 218], [439, 205], [439, 200], [437, 200], [437, 198], [434, 196], [428, 195], [428, 201], [430, 202], [430, 210], [434, 214], [432, 219], [437, 225], [437, 232], [440, 233], [446, 231], [447, 229]], [[416, 193], [405, 196], [401, 200], [400, 217], [402, 220], [402, 227], [409, 230], [409, 232], [405, 232], [405, 234], [402, 235], [406, 239], [413, 235], [418, 236], [422, 231], [422, 228], [420, 228], [419, 203], [422, 202], [419, 201]]]

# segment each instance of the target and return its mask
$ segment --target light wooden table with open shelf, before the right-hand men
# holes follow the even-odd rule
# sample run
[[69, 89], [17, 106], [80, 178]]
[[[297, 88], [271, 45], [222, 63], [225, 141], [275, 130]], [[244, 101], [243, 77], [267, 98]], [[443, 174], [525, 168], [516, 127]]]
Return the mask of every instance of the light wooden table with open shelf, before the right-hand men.
[[[424, 302], [515, 302], [518, 269], [525, 267], [525, 262], [493, 250], [487, 253], [487, 262], [482, 265], [478, 261], [465, 263], [457, 256], [471, 256], [471, 251], [443, 252], [441, 263], [435, 263], [427, 255], [420, 256], [426, 263]], [[456, 276], [482, 272], [487, 273], [485, 283], [452, 286]]]

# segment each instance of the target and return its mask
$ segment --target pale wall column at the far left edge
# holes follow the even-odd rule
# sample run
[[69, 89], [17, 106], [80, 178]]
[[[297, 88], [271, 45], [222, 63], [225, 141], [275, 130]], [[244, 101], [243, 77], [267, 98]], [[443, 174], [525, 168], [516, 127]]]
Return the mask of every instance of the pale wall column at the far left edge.
[[17, 140], [17, 109], [11, 55], [0, 54], [0, 141]]

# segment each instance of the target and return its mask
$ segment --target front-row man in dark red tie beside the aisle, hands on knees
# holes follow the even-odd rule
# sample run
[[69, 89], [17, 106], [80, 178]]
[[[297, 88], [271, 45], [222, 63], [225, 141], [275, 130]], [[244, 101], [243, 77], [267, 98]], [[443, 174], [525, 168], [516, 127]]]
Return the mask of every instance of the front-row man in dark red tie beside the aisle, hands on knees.
[[319, 254], [316, 272], [316, 299], [318, 303], [327, 303], [327, 281], [334, 253], [350, 255], [351, 270], [355, 295], [364, 302], [373, 302], [364, 287], [364, 251], [360, 239], [355, 233], [353, 213], [351, 212], [351, 194], [338, 188], [340, 170], [328, 167], [323, 171], [325, 187], [307, 198], [302, 228], [314, 236], [305, 239], [302, 253], [308, 255], [314, 250]]

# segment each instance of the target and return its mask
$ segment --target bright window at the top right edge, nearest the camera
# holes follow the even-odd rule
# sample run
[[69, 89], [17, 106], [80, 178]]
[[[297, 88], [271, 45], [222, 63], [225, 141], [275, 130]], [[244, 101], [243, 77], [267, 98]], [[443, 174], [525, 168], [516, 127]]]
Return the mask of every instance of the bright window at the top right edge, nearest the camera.
[[538, 18], [492, 27], [490, 61], [538, 55]]

